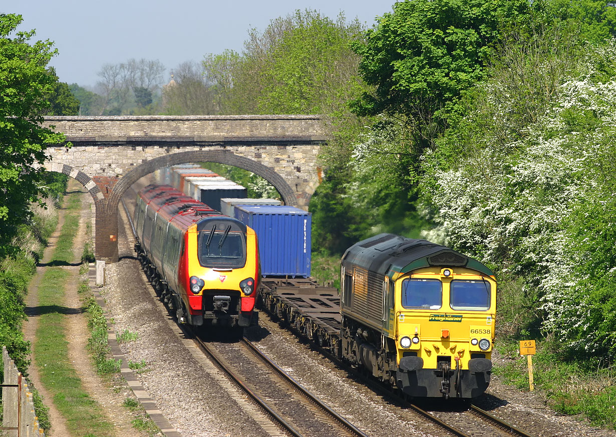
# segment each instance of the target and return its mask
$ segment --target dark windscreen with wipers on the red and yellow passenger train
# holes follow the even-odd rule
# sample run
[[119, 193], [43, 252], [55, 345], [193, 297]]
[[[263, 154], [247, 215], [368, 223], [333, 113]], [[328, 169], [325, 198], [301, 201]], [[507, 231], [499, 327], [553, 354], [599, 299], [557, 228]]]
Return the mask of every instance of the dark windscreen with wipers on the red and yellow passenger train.
[[244, 267], [246, 233], [233, 222], [213, 221], [198, 231], [197, 251], [203, 267]]

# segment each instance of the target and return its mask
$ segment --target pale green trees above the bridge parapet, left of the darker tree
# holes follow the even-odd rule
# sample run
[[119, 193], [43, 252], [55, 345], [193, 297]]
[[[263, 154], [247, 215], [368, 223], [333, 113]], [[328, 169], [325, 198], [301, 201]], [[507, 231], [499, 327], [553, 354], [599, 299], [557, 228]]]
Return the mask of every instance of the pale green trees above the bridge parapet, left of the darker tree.
[[357, 20], [334, 21], [315, 10], [251, 30], [241, 55], [227, 50], [204, 61], [221, 112], [342, 116], [362, 88], [359, 57], [349, 48], [362, 30]]

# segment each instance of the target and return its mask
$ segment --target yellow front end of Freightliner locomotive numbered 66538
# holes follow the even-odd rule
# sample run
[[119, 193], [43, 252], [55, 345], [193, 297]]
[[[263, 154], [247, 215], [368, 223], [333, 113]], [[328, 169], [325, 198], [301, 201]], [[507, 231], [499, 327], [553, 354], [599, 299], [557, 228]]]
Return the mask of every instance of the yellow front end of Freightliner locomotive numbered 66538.
[[492, 369], [496, 282], [469, 268], [426, 267], [395, 279], [397, 385], [411, 396], [474, 398]]

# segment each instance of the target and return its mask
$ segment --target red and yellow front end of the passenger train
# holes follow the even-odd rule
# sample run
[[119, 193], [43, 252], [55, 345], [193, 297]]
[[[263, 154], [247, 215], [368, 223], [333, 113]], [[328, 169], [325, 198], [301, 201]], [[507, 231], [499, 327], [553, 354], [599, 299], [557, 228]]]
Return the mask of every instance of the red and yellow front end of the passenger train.
[[182, 260], [180, 294], [191, 324], [251, 324], [261, 283], [251, 228], [230, 217], [206, 217], [188, 228]]

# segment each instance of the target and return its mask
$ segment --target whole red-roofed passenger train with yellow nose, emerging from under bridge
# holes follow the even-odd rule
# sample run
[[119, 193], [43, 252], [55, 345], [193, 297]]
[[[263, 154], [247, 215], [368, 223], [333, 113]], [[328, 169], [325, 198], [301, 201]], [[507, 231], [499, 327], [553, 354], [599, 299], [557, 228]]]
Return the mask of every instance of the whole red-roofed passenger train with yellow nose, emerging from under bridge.
[[261, 271], [251, 228], [169, 185], [139, 191], [133, 223], [137, 256], [180, 323], [238, 334], [256, 323]]

